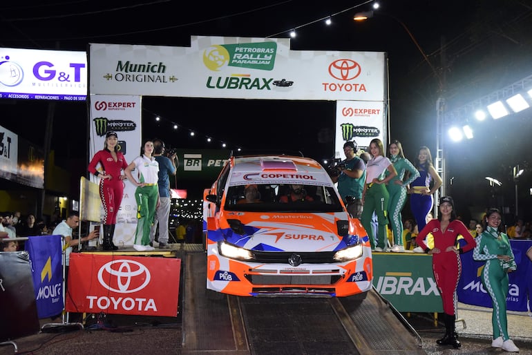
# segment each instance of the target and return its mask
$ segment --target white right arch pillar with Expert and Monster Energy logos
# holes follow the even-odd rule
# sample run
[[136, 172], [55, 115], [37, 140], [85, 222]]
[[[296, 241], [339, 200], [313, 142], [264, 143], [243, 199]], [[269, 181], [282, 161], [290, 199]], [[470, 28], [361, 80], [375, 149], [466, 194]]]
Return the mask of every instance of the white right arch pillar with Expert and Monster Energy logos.
[[335, 157], [345, 159], [343, 144], [353, 140], [365, 151], [369, 151], [368, 146], [373, 138], [379, 138], [386, 147], [385, 122], [383, 102], [336, 102]]

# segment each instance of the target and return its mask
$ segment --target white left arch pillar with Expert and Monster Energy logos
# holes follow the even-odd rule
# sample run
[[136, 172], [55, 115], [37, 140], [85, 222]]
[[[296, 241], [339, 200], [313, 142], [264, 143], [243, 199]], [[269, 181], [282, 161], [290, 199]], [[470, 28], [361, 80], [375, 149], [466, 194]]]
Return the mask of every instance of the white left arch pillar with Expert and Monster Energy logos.
[[[142, 146], [142, 98], [124, 95], [91, 95], [91, 119], [89, 160], [104, 148], [105, 135], [115, 131], [120, 151], [130, 164], [140, 155]], [[97, 169], [102, 171], [102, 166]], [[123, 173], [122, 173], [123, 174]], [[99, 178], [91, 174], [91, 181], [99, 184]], [[137, 227], [136, 187], [124, 180], [124, 198], [117, 213], [114, 242], [117, 246], [133, 245]], [[102, 207], [103, 216], [103, 207]]]

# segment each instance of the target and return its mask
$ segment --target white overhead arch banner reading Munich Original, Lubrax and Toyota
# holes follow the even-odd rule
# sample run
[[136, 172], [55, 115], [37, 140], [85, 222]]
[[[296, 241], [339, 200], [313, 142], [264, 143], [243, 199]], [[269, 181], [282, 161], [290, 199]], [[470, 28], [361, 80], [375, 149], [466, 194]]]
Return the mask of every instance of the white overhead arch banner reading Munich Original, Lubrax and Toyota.
[[289, 39], [191, 47], [90, 44], [91, 94], [383, 101], [384, 52], [290, 50]]

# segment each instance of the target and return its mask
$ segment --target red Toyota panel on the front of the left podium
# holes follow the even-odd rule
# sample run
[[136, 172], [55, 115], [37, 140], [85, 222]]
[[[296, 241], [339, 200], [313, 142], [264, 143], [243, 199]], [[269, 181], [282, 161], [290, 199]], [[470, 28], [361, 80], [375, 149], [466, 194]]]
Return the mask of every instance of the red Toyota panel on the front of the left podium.
[[70, 254], [66, 311], [177, 316], [181, 260]]

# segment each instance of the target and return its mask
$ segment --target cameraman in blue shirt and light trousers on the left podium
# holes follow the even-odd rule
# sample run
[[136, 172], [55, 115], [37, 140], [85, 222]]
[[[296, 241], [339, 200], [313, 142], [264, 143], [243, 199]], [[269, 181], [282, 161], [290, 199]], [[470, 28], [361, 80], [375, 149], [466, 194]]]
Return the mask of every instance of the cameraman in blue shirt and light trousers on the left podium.
[[155, 231], [157, 231], [157, 224], [159, 224], [159, 248], [168, 248], [168, 218], [170, 215], [170, 178], [169, 174], [175, 175], [177, 172], [177, 155], [175, 151], [164, 155], [164, 142], [162, 140], [153, 140], [153, 157], [159, 163], [159, 199], [160, 205], [155, 211], [155, 218], [153, 219], [153, 226], [150, 231], [150, 244], [153, 246], [155, 240]]

